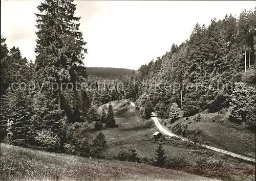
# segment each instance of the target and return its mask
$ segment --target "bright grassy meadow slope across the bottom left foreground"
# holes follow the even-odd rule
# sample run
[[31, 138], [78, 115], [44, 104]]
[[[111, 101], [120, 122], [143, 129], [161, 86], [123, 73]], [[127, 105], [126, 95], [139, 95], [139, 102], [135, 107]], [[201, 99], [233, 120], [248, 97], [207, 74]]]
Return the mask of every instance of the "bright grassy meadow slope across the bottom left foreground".
[[214, 180], [132, 162], [49, 153], [1, 144], [1, 180]]

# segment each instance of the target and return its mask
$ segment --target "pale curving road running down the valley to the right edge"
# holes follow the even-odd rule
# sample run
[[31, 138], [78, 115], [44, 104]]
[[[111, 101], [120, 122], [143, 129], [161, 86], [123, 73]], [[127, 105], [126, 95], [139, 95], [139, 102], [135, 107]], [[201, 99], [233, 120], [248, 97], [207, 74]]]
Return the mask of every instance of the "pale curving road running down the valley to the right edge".
[[[167, 130], [166, 127], [164, 127], [164, 126], [162, 126], [162, 125], [160, 124], [159, 119], [156, 117], [156, 114], [155, 114], [155, 113], [152, 113], [152, 116], [153, 116], [153, 117], [151, 117], [151, 119], [154, 120], [154, 122], [155, 122], [155, 124], [156, 124], [158, 130], [159, 130], [161, 133], [163, 133], [163, 134], [165, 134], [165, 135], [167, 135], [167, 136], [169, 136], [169, 137], [178, 137], [178, 138], [181, 138], [183, 141], [188, 141], [188, 142], [190, 142], [190, 143], [194, 143], [193, 141], [189, 141], [188, 139], [182, 138], [182, 137], [180, 137], [180, 136], [178, 136], [178, 135], [173, 134], [173, 133], [170, 132], [169, 130]], [[194, 143], [194, 144], [195, 144], [195, 143]], [[231, 156], [231, 157], [235, 157], [235, 158], [239, 158], [239, 159], [242, 159], [242, 160], [246, 160], [246, 161], [250, 161], [250, 162], [254, 162], [254, 163], [255, 163], [255, 159], [251, 159], [251, 158], [248, 158], [248, 157], [244, 157], [244, 156], [241, 156], [240, 154], [232, 153], [232, 152], [229, 152], [229, 151], [226, 151], [226, 150], [223, 150], [223, 149], [219, 149], [219, 148], [212, 147], [212, 146], [207, 146], [207, 145], [204, 145], [204, 144], [199, 144], [199, 143], [196, 143], [196, 144], [197, 144], [197, 145], [200, 145], [200, 146], [202, 146], [202, 147], [204, 147], [204, 148], [207, 148], [207, 149], [211, 149], [211, 150], [214, 150], [214, 151], [221, 152], [221, 153], [223, 153], [223, 154], [227, 154], [227, 155], [229, 155], [229, 156]]]

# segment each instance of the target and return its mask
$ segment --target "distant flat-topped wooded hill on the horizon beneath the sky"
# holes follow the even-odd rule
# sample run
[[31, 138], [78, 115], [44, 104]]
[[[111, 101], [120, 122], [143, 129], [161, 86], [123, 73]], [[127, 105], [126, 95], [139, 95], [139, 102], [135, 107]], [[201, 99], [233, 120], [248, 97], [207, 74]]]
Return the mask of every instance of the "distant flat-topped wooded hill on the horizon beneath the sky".
[[102, 77], [104, 79], [115, 79], [125, 74], [132, 72], [127, 68], [112, 68], [112, 67], [88, 67], [87, 72], [89, 77]]

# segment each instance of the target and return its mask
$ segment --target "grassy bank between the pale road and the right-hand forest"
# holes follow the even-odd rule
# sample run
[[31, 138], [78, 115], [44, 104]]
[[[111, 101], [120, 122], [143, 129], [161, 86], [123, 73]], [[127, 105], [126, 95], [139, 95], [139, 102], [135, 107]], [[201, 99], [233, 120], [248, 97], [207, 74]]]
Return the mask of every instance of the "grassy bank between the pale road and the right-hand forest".
[[195, 116], [179, 118], [173, 124], [165, 120], [172, 132], [180, 135], [185, 130], [185, 137], [203, 142], [209, 146], [225, 149], [247, 157], [255, 158], [255, 133], [243, 126], [231, 123], [229, 113], [201, 113], [201, 121], [197, 122]]

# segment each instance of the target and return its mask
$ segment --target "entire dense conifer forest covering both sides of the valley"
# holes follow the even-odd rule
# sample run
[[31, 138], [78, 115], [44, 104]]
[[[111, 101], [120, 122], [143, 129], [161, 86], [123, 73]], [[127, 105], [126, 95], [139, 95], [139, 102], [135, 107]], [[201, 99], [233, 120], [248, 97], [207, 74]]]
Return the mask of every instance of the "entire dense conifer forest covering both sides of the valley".
[[[87, 42], [73, 0], [46, 0], [37, 9], [34, 63], [1, 35], [1, 141], [101, 157], [104, 135], [93, 139], [91, 133], [102, 124], [118, 126], [109, 102], [121, 99], [135, 101], [144, 118], [152, 111], [169, 118], [177, 109], [184, 116], [226, 109], [232, 120], [255, 127], [255, 84], [242, 82], [244, 72], [255, 70], [255, 10], [213, 19], [209, 27], [196, 24], [189, 40], [173, 44], [156, 61], [137, 71], [109, 73], [83, 65]], [[112, 86], [99, 85], [88, 74], [115, 79], [107, 82]], [[83, 90], [82, 83], [94, 86]], [[107, 103], [108, 110], [98, 115], [97, 108]]]

